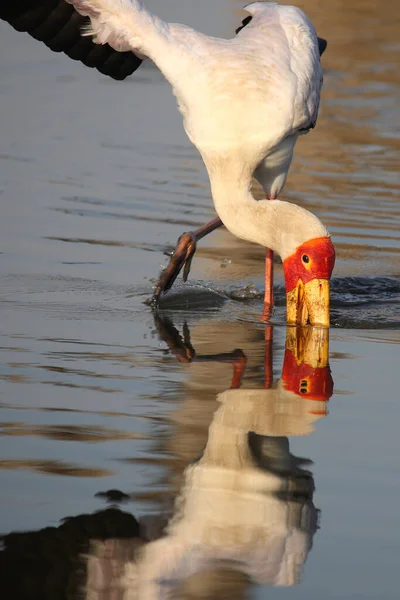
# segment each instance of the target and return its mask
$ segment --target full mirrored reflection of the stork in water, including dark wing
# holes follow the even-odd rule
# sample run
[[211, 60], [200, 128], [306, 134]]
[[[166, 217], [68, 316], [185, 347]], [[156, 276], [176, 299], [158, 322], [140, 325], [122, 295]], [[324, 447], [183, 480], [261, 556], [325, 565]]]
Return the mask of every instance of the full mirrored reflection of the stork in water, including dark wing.
[[[138, 520], [113, 506], [3, 536], [6, 597], [156, 600], [180, 590], [182, 598], [239, 599], [252, 583], [299, 582], [319, 511], [312, 460], [292, 454], [289, 439], [309, 435], [327, 415], [329, 332], [288, 328], [274, 380], [272, 326], [252, 364], [240, 349], [196, 352], [186, 324], [182, 335], [169, 318], [158, 315], [155, 325], [179, 362], [232, 366], [203, 449], [183, 465], [173, 506]], [[244, 384], [247, 370], [252, 385]], [[118, 490], [98, 495], [129, 500]]]

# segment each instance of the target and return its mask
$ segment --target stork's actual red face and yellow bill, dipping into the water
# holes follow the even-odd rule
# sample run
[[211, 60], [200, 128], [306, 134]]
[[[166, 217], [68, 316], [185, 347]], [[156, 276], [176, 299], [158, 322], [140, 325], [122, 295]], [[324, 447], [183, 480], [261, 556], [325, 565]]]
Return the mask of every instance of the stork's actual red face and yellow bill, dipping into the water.
[[331, 238], [309, 240], [283, 263], [287, 322], [329, 327], [329, 280], [335, 265]]

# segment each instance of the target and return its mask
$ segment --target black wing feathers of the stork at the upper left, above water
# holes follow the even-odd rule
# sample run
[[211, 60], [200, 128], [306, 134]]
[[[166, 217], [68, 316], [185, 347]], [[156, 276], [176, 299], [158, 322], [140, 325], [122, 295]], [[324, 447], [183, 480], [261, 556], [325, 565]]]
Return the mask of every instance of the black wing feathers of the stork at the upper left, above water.
[[125, 79], [142, 63], [133, 52], [117, 52], [108, 44], [99, 46], [91, 37], [82, 37], [87, 18], [64, 0], [3, 0], [0, 18], [44, 42], [53, 52], [64, 52], [113, 79]]

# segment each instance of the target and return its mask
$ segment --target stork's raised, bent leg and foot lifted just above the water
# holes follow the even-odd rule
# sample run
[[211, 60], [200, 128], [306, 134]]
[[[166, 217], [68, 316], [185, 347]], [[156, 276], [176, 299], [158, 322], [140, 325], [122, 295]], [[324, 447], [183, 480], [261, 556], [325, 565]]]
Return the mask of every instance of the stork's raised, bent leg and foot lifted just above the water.
[[168, 291], [172, 287], [182, 268], [184, 268], [183, 281], [187, 280], [190, 265], [192, 264], [192, 258], [196, 252], [197, 242], [222, 225], [221, 219], [216, 217], [195, 231], [189, 231], [181, 235], [176, 243], [175, 250], [172, 253], [168, 265], [160, 274], [152, 297], [152, 303], [154, 305], [157, 305], [160, 294]]

